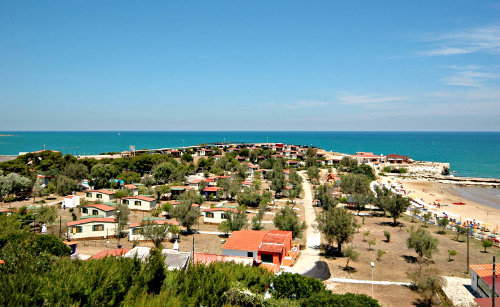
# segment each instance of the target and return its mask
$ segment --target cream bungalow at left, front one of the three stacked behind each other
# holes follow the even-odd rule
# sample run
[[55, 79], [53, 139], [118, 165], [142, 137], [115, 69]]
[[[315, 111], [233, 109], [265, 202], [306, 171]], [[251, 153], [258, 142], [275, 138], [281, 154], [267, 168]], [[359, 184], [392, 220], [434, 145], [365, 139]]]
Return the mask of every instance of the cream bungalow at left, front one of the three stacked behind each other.
[[102, 239], [114, 236], [117, 229], [117, 221], [114, 218], [91, 217], [67, 223], [68, 238], [78, 239]]

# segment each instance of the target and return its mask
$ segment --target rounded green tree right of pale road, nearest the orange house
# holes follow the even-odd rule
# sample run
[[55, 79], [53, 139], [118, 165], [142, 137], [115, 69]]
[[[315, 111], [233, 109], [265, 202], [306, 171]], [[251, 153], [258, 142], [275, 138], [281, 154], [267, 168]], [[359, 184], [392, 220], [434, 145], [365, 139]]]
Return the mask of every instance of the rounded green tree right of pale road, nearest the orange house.
[[328, 208], [317, 216], [316, 221], [328, 246], [331, 246], [334, 241], [337, 242], [340, 254], [342, 244], [350, 242], [356, 232], [356, 218], [344, 208]]

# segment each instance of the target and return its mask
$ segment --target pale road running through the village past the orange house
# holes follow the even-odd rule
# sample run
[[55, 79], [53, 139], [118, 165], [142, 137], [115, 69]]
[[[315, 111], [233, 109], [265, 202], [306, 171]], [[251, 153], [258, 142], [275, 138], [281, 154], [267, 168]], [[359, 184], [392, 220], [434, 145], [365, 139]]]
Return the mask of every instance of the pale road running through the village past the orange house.
[[305, 220], [307, 224], [307, 247], [300, 252], [300, 257], [292, 267], [292, 271], [294, 273], [305, 274], [311, 271], [316, 265], [316, 262], [319, 261], [321, 233], [313, 226], [316, 224], [316, 212], [314, 211], [314, 207], [312, 205], [313, 195], [311, 185], [306, 180], [303, 171], [299, 172], [299, 175], [304, 180], [303, 187], [305, 195], [302, 200], [302, 204], [304, 205]]

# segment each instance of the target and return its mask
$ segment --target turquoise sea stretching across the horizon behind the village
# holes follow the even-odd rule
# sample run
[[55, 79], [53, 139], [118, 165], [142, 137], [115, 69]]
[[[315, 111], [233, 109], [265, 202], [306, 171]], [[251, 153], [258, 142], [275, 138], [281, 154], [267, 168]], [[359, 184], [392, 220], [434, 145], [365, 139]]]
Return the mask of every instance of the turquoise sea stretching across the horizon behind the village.
[[42, 148], [64, 154], [165, 148], [211, 142], [282, 142], [342, 153], [402, 154], [414, 160], [449, 162], [456, 176], [500, 178], [500, 132], [296, 132], [296, 131], [115, 131], [0, 132], [0, 155]]

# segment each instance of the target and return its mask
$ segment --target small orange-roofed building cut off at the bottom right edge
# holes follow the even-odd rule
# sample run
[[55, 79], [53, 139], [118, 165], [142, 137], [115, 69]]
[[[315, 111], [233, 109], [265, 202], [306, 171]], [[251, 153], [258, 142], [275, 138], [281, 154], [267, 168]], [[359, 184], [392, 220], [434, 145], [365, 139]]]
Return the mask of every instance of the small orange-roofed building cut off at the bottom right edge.
[[[493, 289], [493, 264], [472, 264], [471, 287], [480, 297], [491, 297]], [[500, 264], [495, 265], [495, 292], [500, 296]], [[491, 302], [491, 300], [490, 300]], [[491, 306], [491, 305], [489, 305]]]

